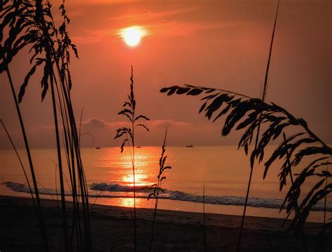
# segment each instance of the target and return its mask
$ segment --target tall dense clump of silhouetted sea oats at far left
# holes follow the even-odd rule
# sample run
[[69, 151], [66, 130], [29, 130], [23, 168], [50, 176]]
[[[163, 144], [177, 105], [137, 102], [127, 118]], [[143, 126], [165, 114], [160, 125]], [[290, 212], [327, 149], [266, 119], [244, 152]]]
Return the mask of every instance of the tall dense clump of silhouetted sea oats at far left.
[[[22, 135], [25, 140], [25, 149], [29, 160], [30, 172], [36, 197], [36, 212], [39, 219], [41, 237], [45, 245], [45, 251], [49, 251], [46, 237], [46, 227], [43, 223], [41, 202], [39, 199], [39, 188], [25, 125], [23, 124], [20, 105], [29, 79], [36, 72], [36, 68], [43, 67], [41, 77], [41, 101], [50, 92], [52, 110], [55, 126], [57, 165], [59, 167], [61, 209], [62, 209], [62, 232], [64, 251], [92, 251], [88, 186], [86, 184], [81, 150], [79, 146], [79, 134], [76, 127], [74, 109], [71, 102], [71, 73], [70, 55], [74, 52], [78, 57], [76, 46], [71, 43], [67, 32], [67, 25], [70, 20], [64, 8], [64, 1], [60, 4], [59, 10], [62, 16], [60, 27], [54, 22], [52, 4], [50, 1], [1, 1], [0, 6], [0, 73], [6, 72], [8, 82], [18, 112]], [[6, 32], [6, 33], [5, 33]], [[18, 52], [29, 49], [32, 57], [29, 61], [33, 64], [27, 73], [24, 82], [20, 87], [18, 97], [15, 93], [13, 80], [9, 65]], [[60, 140], [62, 130], [63, 140]], [[61, 148], [64, 147], [67, 170], [70, 176], [70, 191], [73, 204], [72, 223], [69, 228], [68, 210], [65, 201], [64, 169], [62, 162]], [[34, 199], [33, 199], [34, 200]]]

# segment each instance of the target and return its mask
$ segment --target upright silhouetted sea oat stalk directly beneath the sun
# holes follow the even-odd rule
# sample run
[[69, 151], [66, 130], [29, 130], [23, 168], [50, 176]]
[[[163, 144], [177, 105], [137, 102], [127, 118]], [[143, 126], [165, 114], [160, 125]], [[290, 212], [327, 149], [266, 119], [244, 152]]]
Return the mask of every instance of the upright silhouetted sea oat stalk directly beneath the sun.
[[[132, 68], [132, 67], [131, 67]], [[127, 96], [128, 100], [123, 103], [123, 110], [118, 112], [118, 114], [127, 117], [130, 121], [129, 127], [118, 128], [116, 130], [116, 138], [123, 137], [123, 143], [121, 144], [120, 151], [123, 153], [123, 148], [125, 144], [128, 145], [130, 149], [130, 156], [132, 161], [132, 178], [133, 178], [133, 194], [134, 194], [134, 216], [132, 218], [134, 224], [134, 251], [137, 251], [137, 225], [136, 225], [136, 185], [135, 185], [135, 129], [137, 127], [148, 128], [144, 124], [139, 124], [141, 119], [150, 120], [148, 117], [140, 114], [136, 115], [136, 100], [134, 97], [134, 75], [133, 71], [130, 76], [130, 94]]]

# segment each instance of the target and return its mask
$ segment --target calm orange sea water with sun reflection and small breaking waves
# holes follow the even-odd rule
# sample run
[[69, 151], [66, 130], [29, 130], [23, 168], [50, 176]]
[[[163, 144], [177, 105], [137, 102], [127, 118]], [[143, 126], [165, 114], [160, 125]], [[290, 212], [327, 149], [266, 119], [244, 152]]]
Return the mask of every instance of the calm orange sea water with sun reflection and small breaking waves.
[[[266, 151], [269, 156], [273, 147]], [[20, 156], [27, 171], [25, 151]], [[153, 207], [153, 200], [146, 196], [151, 191], [158, 175], [160, 147], [141, 147], [135, 149], [137, 207]], [[34, 149], [32, 151], [36, 178], [39, 181], [42, 198], [57, 199], [59, 182], [57, 156], [55, 149]], [[132, 163], [129, 149], [120, 154], [118, 147], [101, 149], [82, 149], [85, 175], [90, 188], [90, 202], [102, 205], [131, 207], [132, 200]], [[0, 194], [29, 197], [22, 168], [13, 150], [0, 151]], [[202, 190], [205, 184], [205, 211], [216, 214], [237, 214], [243, 211], [244, 196], [249, 177], [249, 158], [235, 146], [219, 147], [167, 147], [167, 170], [162, 188], [165, 194], [160, 200], [160, 209], [189, 212], [202, 212]], [[301, 167], [298, 167], [300, 170]], [[298, 172], [293, 170], [294, 173]], [[28, 172], [29, 173], [29, 172]], [[64, 173], [67, 178], [69, 174]], [[249, 216], [285, 216], [279, 213], [286, 190], [279, 191], [278, 163], [270, 168], [268, 177], [263, 180], [263, 165], [256, 165], [251, 184], [251, 198], [247, 213]], [[309, 181], [303, 191], [314, 183]], [[67, 186], [67, 192], [69, 188]], [[323, 205], [319, 205], [321, 209]], [[332, 209], [331, 198], [328, 208]], [[322, 221], [321, 211], [313, 212], [310, 221]], [[328, 218], [332, 217], [328, 212]]]

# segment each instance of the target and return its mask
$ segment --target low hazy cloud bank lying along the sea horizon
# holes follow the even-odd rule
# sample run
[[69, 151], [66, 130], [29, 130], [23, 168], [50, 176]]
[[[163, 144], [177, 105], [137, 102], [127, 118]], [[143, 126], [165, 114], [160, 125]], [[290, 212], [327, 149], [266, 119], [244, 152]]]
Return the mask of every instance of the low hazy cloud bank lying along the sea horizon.
[[[238, 140], [238, 135], [231, 135], [230, 138], [221, 138], [219, 124], [193, 124], [189, 121], [177, 121], [174, 119], [155, 119], [151, 121], [140, 121], [150, 129], [146, 132], [144, 128], [137, 128], [135, 141], [139, 145], [159, 146], [168, 128], [167, 144], [173, 146], [185, 146], [186, 144], [210, 145], [210, 144], [234, 144]], [[94, 139], [95, 146], [120, 146], [123, 139], [116, 139], [116, 129], [120, 127], [130, 127], [128, 121], [106, 121], [101, 118], [92, 117], [86, 119], [81, 124], [81, 146], [91, 147]], [[62, 131], [62, 128], [60, 128]], [[87, 134], [88, 133], [88, 134]], [[30, 128], [29, 140], [32, 147], [55, 148], [55, 131], [53, 124]], [[17, 143], [17, 147], [24, 147], [22, 133], [12, 131], [12, 137]], [[0, 148], [10, 148], [10, 142], [5, 135], [0, 135]]]

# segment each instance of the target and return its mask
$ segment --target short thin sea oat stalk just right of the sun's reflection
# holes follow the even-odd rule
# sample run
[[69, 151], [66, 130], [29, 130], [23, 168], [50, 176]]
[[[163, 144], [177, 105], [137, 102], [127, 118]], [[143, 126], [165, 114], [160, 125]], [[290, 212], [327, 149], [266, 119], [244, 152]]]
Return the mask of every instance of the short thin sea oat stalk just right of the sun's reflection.
[[158, 200], [159, 200], [159, 194], [160, 193], [165, 193], [164, 189], [162, 189], [162, 181], [164, 179], [166, 179], [165, 176], [165, 172], [167, 169], [172, 169], [172, 167], [165, 165], [166, 162], [166, 158], [167, 156], [165, 156], [165, 152], [166, 152], [166, 138], [167, 138], [167, 128], [166, 128], [166, 132], [165, 132], [165, 138], [164, 138], [164, 143], [162, 144], [162, 151], [161, 151], [161, 156], [159, 159], [159, 172], [157, 175], [157, 183], [153, 184], [151, 186], [152, 191], [151, 193], [148, 194], [148, 200], [150, 200], [150, 198], [154, 198], [155, 199], [155, 207], [153, 209], [153, 220], [152, 220], [152, 230], [151, 230], [151, 239], [150, 239], [150, 246], [148, 251], [152, 251], [152, 244], [153, 244], [153, 234], [154, 234], [154, 230], [155, 230], [155, 216], [157, 215], [157, 208], [158, 208]]

